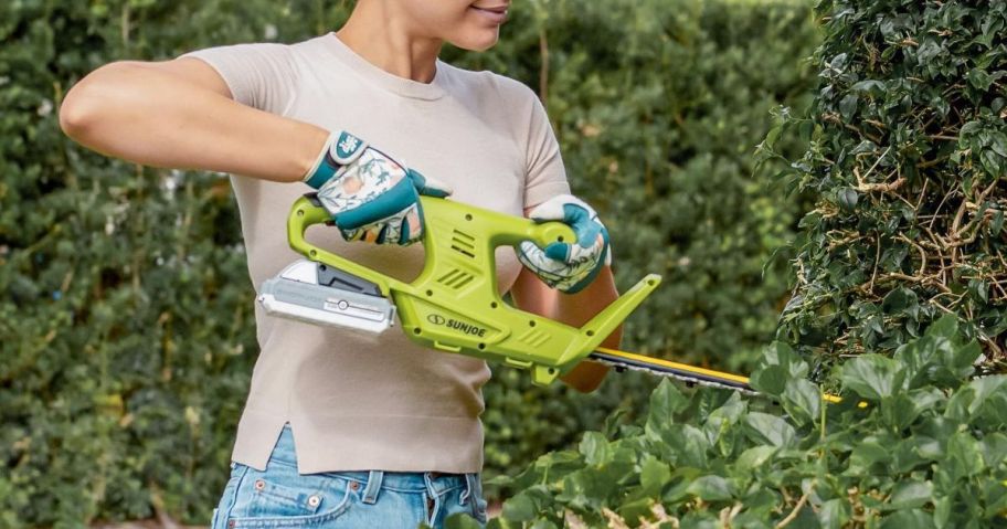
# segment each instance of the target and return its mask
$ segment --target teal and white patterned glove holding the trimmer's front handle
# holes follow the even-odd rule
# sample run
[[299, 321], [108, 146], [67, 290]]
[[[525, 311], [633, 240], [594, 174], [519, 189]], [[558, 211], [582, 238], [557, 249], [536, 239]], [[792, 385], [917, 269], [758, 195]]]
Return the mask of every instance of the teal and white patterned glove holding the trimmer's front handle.
[[597, 213], [581, 199], [561, 194], [542, 202], [528, 214], [536, 222], [561, 221], [569, 224], [576, 242], [550, 243], [544, 248], [531, 241], [518, 246], [518, 260], [547, 285], [575, 294], [590, 285], [602, 269], [612, 264], [608, 230]]

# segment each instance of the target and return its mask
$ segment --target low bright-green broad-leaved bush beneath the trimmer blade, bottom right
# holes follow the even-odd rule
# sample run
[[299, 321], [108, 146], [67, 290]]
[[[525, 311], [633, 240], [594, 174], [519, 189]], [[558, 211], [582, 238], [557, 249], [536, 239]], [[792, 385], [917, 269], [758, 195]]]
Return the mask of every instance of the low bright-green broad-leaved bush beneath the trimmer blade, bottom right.
[[946, 316], [852, 359], [839, 404], [783, 343], [753, 373], [778, 406], [664, 382], [642, 424], [498, 478], [518, 493], [489, 528], [1007, 527], [1007, 377], [969, 381], [981, 350], [958, 335]]

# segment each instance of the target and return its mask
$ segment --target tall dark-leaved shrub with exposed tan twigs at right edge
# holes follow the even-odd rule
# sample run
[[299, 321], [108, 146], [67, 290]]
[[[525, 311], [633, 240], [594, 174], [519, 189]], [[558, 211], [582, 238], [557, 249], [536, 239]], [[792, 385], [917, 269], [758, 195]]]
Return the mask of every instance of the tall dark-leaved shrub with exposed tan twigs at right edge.
[[891, 349], [951, 313], [1003, 371], [1007, 3], [820, 9], [813, 114], [782, 125], [813, 136], [788, 177], [820, 199], [780, 337], [817, 363]]

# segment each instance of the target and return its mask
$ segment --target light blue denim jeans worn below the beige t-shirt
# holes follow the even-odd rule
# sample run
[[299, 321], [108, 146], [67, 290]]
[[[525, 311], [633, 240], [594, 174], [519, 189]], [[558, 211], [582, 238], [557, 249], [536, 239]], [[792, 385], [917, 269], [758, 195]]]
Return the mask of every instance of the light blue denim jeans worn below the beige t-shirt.
[[231, 464], [212, 529], [434, 528], [456, 512], [486, 523], [479, 474], [297, 473], [294, 436], [284, 427], [265, 472]]

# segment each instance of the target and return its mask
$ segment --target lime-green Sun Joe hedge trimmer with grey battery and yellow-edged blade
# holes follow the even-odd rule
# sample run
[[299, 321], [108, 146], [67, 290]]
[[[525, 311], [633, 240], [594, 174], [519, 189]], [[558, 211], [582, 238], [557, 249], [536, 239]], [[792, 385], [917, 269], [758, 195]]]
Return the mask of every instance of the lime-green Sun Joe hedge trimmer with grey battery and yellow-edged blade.
[[394, 325], [415, 342], [531, 372], [548, 384], [581, 360], [617, 370], [646, 371], [687, 383], [754, 393], [745, 377], [702, 369], [598, 345], [660, 283], [649, 274], [598, 315], [575, 328], [511, 307], [497, 288], [494, 250], [531, 240], [544, 246], [573, 240], [569, 226], [537, 223], [456, 201], [421, 197], [426, 261], [412, 283], [403, 283], [305, 240], [329, 213], [314, 193], [298, 199], [287, 220], [290, 246], [299, 260], [266, 281], [258, 301], [267, 314], [311, 324], [378, 334]]

